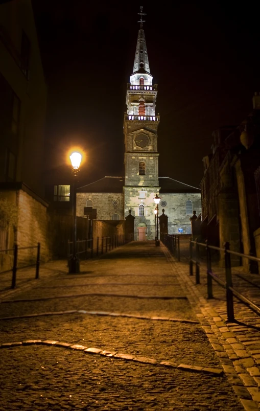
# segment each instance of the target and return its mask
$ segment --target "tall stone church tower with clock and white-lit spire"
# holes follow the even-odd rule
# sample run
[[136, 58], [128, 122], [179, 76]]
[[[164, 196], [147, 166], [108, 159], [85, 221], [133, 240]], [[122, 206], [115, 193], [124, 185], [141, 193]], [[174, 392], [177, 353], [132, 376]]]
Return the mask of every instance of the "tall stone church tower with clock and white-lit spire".
[[127, 112], [125, 134], [125, 216], [132, 210], [135, 223], [154, 224], [153, 198], [159, 193], [157, 129], [159, 116], [155, 115], [157, 84], [150, 73], [143, 7], [140, 7], [133, 73], [127, 84]]

